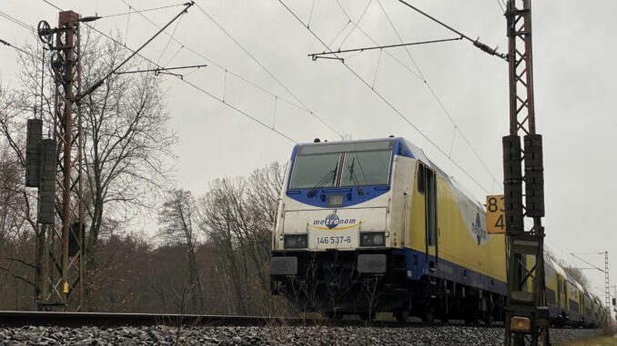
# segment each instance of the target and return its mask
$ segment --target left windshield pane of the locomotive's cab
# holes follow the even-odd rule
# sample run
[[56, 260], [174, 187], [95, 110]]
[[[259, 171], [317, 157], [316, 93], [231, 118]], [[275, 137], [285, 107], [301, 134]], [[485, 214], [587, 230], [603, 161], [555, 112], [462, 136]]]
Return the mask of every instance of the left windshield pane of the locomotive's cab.
[[333, 187], [340, 153], [298, 155], [291, 173], [289, 189]]

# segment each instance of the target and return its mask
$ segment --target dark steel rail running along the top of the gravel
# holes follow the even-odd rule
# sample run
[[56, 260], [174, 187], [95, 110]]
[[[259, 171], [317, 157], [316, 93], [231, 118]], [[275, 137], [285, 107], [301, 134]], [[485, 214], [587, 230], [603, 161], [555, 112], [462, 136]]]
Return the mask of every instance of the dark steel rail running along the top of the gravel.
[[[0, 327], [58, 326], [76, 328], [81, 326], [331, 326], [331, 327], [376, 327], [376, 328], [426, 328], [466, 327], [460, 323], [424, 323], [399, 321], [361, 321], [300, 319], [261, 316], [225, 316], [158, 313], [111, 313], [111, 312], [51, 312], [51, 311], [0, 311]], [[478, 324], [480, 328], [503, 328], [500, 324]]]

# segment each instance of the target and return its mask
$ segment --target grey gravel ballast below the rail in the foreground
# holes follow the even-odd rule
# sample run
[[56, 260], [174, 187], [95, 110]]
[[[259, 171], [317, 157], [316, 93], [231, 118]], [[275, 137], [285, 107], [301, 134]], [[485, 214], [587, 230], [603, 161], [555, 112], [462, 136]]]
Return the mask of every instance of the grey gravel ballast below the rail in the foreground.
[[[596, 330], [551, 330], [552, 344]], [[8, 345], [502, 345], [503, 329], [479, 327], [0, 327]]]

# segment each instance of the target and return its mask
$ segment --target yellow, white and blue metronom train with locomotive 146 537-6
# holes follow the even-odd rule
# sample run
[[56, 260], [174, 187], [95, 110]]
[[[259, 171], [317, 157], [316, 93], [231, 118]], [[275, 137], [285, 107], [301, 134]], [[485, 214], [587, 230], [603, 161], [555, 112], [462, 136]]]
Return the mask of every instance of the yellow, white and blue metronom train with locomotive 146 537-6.
[[[485, 206], [402, 137], [299, 143], [272, 232], [270, 291], [300, 311], [502, 321], [506, 242]], [[597, 327], [601, 301], [546, 259], [555, 326]]]

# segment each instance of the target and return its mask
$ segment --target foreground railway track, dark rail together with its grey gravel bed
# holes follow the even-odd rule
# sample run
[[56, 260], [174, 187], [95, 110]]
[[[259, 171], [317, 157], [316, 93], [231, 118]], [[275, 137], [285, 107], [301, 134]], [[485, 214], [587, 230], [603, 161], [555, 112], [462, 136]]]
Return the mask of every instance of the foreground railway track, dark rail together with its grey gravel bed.
[[[182, 326], [182, 327], [181, 327]], [[181, 327], [181, 328], [180, 328]], [[431, 328], [430, 328], [431, 327]], [[598, 334], [551, 330], [557, 343]], [[503, 325], [151, 313], [0, 311], [0, 345], [503, 344]]]

